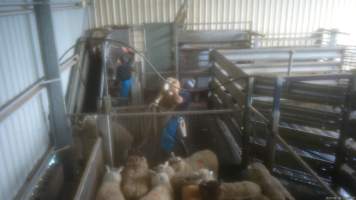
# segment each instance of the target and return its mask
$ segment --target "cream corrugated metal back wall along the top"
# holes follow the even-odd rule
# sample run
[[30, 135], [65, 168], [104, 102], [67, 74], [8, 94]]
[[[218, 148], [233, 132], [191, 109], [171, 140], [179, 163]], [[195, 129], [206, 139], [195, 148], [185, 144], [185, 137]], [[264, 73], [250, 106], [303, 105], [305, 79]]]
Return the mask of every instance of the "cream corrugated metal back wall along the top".
[[[91, 25], [171, 22], [183, 0], [94, 0]], [[354, 0], [188, 0], [187, 23], [251, 21], [265, 34], [306, 33], [339, 28], [356, 33]], [[233, 25], [199, 26], [228, 29]]]

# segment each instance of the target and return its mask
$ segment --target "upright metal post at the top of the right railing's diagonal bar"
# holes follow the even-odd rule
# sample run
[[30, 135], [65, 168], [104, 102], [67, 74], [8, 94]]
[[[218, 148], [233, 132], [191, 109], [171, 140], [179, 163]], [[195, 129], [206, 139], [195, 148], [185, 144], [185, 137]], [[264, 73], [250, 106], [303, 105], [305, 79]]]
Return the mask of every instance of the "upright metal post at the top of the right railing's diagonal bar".
[[272, 170], [275, 155], [276, 155], [276, 136], [279, 135], [279, 118], [280, 118], [280, 100], [282, 94], [282, 86], [283, 86], [284, 79], [281, 77], [277, 77], [275, 80], [274, 86], [274, 94], [273, 94], [273, 106], [272, 106], [272, 119], [270, 123], [270, 135], [267, 139], [266, 145], [266, 166]]

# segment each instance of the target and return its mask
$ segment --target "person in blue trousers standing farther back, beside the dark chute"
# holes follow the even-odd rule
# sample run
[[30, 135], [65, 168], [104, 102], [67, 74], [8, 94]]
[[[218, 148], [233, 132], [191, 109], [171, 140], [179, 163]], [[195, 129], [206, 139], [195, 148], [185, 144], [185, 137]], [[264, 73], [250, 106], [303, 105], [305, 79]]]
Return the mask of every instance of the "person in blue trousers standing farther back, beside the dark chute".
[[120, 81], [120, 93], [119, 96], [123, 98], [127, 98], [126, 101], [128, 101], [128, 97], [131, 91], [131, 85], [132, 85], [132, 63], [134, 60], [134, 53], [132, 49], [122, 47], [121, 52], [119, 53], [119, 56], [117, 58], [116, 64], [117, 64], [117, 78]]

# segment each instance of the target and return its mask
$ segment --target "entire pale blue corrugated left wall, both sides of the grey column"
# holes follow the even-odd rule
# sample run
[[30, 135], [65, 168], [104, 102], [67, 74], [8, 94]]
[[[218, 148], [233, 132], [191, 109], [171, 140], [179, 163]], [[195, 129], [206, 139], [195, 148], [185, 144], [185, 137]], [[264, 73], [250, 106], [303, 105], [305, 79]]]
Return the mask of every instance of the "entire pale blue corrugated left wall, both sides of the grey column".
[[[4, 6], [16, 3], [21, 2], [0, 0], [1, 108], [44, 76], [33, 10], [10, 13], [13, 8]], [[52, 10], [58, 56], [88, 27], [85, 13], [82, 8]], [[61, 77], [64, 85], [68, 76], [64, 71]], [[43, 89], [0, 121], [0, 199], [14, 198], [48, 150], [51, 144], [48, 117], [48, 96]]]

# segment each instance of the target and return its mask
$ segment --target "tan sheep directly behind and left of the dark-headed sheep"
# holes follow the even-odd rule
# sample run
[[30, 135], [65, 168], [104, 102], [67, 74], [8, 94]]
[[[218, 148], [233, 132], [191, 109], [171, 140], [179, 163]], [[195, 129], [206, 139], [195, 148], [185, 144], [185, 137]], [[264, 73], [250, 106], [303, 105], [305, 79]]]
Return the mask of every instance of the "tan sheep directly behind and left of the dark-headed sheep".
[[[179, 172], [171, 178], [171, 185], [176, 199], [181, 199], [183, 188], [188, 185], [198, 185], [204, 181], [215, 180], [212, 171], [207, 169], [199, 169], [196, 172]], [[186, 190], [189, 190], [187, 188]]]

